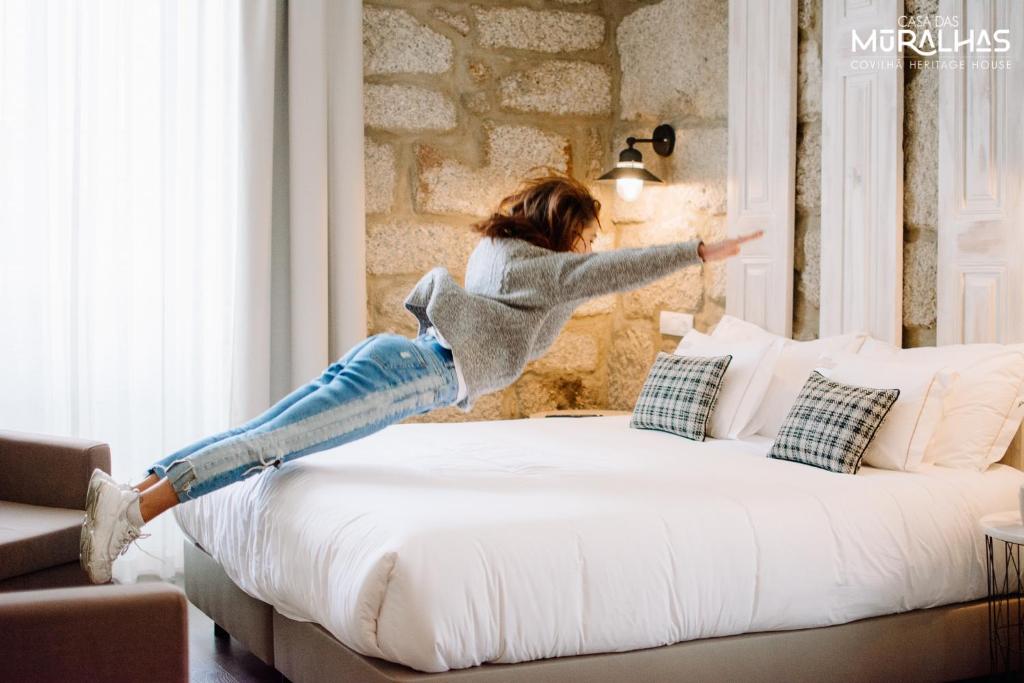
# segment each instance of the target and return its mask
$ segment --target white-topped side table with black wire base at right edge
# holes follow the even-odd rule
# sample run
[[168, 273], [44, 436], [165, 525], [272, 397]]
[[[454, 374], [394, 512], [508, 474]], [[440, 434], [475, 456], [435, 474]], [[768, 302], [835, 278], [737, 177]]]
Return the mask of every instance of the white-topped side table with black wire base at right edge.
[[1017, 510], [985, 515], [988, 568], [988, 652], [992, 673], [1024, 670], [1024, 590], [1021, 546], [1024, 522]]

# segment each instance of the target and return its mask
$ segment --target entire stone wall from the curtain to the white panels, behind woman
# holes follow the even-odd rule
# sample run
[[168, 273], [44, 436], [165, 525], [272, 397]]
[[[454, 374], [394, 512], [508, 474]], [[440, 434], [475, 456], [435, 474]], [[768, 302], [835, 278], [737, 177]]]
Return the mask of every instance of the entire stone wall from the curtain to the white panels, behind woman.
[[[642, 151], [668, 182], [635, 205], [592, 184], [605, 206], [597, 249], [722, 234], [726, 14], [719, 0], [365, 2], [371, 333], [415, 332], [401, 305], [413, 284], [434, 265], [461, 278], [469, 225], [530, 168], [590, 181], [658, 123], [677, 127], [676, 154]], [[657, 349], [677, 341], [658, 334], [659, 311], [707, 328], [723, 296], [722, 269], [695, 267], [590, 302], [514, 385], [429, 419], [631, 408]]]

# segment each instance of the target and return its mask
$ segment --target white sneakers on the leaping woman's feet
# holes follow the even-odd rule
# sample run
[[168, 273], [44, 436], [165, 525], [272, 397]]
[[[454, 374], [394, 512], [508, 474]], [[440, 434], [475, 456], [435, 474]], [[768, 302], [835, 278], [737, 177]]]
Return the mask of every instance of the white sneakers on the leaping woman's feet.
[[[79, 560], [94, 584], [111, 580], [114, 560], [141, 536], [139, 526], [128, 515], [129, 509], [137, 505], [139, 493], [108, 478], [93, 473], [89, 481], [90, 495], [79, 541]], [[134, 512], [138, 514], [137, 508]]]

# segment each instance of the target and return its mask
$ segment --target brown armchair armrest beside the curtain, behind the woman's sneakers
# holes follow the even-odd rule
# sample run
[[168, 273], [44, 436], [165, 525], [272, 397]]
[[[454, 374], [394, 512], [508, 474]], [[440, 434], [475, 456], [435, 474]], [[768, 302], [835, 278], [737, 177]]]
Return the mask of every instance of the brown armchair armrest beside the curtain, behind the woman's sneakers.
[[111, 447], [100, 441], [0, 430], [0, 500], [84, 510], [97, 467], [111, 471]]

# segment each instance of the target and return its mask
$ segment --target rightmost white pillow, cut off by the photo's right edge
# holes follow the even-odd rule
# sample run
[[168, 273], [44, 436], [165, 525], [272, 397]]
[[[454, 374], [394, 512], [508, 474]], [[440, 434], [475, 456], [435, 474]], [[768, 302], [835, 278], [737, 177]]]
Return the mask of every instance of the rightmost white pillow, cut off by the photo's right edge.
[[984, 470], [1006, 454], [1024, 418], [1024, 344], [897, 349], [869, 340], [860, 354], [955, 373], [926, 463]]

